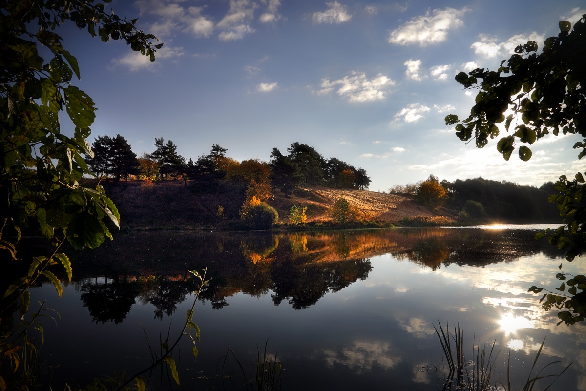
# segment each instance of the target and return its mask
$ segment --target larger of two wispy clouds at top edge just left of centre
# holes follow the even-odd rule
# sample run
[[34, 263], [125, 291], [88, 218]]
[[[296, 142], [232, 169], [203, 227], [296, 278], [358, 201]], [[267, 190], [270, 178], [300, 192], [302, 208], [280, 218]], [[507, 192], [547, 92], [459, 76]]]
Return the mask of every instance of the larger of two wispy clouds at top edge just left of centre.
[[218, 35], [222, 41], [243, 39], [247, 34], [254, 33], [250, 22], [254, 18], [257, 4], [249, 0], [230, 0], [230, 8], [224, 18], [217, 23], [216, 28], [223, 30]]

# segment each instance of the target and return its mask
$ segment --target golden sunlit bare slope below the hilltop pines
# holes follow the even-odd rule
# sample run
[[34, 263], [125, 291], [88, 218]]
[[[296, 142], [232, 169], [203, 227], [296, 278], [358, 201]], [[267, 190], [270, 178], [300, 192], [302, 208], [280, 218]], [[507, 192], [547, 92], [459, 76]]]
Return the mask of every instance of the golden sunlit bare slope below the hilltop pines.
[[[315, 206], [319, 206], [319, 209], [324, 212], [333, 205], [336, 198], [344, 197], [350, 204], [356, 205], [367, 219], [396, 222], [404, 217], [436, 215], [427, 210], [427, 208], [415, 203], [413, 199], [396, 194], [383, 194], [368, 190], [325, 188], [321, 186], [306, 186], [302, 187], [302, 190], [305, 193], [304, 197], [293, 195], [292, 198], [298, 198], [297, 201], [299, 204], [314, 204]], [[325, 218], [325, 213], [323, 215], [309, 215], [310, 220]]]

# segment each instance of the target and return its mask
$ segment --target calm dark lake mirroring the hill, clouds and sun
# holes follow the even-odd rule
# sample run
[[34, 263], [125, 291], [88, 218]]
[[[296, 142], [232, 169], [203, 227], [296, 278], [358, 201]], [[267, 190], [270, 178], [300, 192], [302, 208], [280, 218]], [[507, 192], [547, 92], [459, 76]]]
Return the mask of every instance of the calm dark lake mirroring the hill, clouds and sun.
[[207, 267], [193, 317], [199, 356], [183, 338], [181, 386], [159, 368], [149, 389], [242, 389], [239, 362], [250, 372], [265, 344], [282, 362], [283, 390], [442, 389], [441, 324], [464, 331], [467, 359], [475, 344], [496, 341], [493, 385], [506, 382], [510, 351], [520, 389], [546, 338], [539, 368], [561, 363], [542, 375], [574, 362], [550, 390], [586, 390], [586, 325], [556, 325], [557, 313], [527, 292], [559, 286], [560, 263], [586, 273], [533, 239], [547, 227], [555, 226], [119, 234], [96, 250], [68, 251], [74, 281], [62, 299], [48, 284], [32, 290], [32, 303], [47, 299], [60, 314], [43, 321], [43, 381], [63, 389], [147, 367], [149, 343], [174, 339], [192, 306], [197, 284], [187, 270]]

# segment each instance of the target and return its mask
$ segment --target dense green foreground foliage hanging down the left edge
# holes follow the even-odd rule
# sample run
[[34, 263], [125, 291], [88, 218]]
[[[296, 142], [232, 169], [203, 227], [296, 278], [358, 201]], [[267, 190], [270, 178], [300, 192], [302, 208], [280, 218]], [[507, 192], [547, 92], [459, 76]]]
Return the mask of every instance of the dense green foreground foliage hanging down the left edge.
[[[28, 289], [42, 279], [61, 296], [61, 282], [49, 266], [61, 264], [71, 279], [72, 265], [60, 252], [64, 242], [77, 249], [96, 248], [112, 238], [106, 221], [119, 227], [120, 215], [103, 188], [79, 184], [84, 174], [91, 174], [83, 155], [94, 156], [87, 137], [96, 108], [71, 84], [73, 76], [80, 78], [79, 65], [55, 32], [68, 21], [104, 42], [124, 40], [151, 61], [162, 46], [154, 43], [154, 35], [137, 29], [137, 19], [120, 18], [93, 0], [0, 1], [0, 250], [2, 270], [11, 270], [4, 278], [12, 280], [8, 289], [0, 287], [0, 319], [15, 303], [23, 318], [30, 302]], [[63, 110], [75, 126], [69, 135], [60, 127]], [[53, 249], [19, 259], [16, 245], [23, 233], [44, 236]], [[17, 354], [32, 323], [22, 326], [16, 339], [0, 338], [0, 366], [19, 368]], [[10, 385], [0, 377], [0, 386]]]

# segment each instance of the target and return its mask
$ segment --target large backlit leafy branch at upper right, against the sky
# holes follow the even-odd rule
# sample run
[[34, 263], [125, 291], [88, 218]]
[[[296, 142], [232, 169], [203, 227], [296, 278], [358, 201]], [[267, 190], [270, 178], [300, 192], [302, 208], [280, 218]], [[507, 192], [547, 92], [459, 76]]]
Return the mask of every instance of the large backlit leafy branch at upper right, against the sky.
[[[479, 92], [468, 118], [460, 121], [451, 114], [445, 117], [446, 125], [456, 125], [458, 138], [474, 139], [482, 148], [498, 138], [499, 124], [504, 123], [510, 134], [499, 139], [497, 149], [506, 160], [517, 146], [520, 159], [529, 160], [529, 146], [550, 133], [586, 137], [584, 19], [573, 29], [569, 22], [560, 22], [560, 33], [546, 39], [540, 53], [537, 43], [529, 41], [517, 46], [496, 71], [476, 68], [457, 74], [458, 83]], [[505, 117], [506, 112], [511, 114]]]

